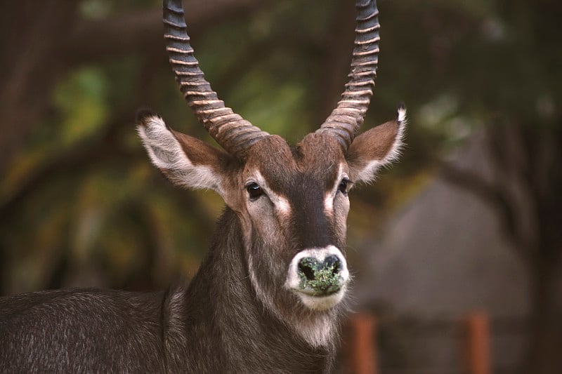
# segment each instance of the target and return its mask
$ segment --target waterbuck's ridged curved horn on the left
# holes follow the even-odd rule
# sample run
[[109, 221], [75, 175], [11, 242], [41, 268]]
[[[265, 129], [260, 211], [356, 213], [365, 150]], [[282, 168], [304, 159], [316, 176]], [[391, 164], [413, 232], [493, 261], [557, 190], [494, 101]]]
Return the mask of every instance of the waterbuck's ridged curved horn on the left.
[[226, 152], [244, 159], [247, 149], [269, 134], [225, 107], [204, 79], [189, 42], [182, 1], [164, 0], [163, 11], [166, 51], [183, 97], [214, 140]]

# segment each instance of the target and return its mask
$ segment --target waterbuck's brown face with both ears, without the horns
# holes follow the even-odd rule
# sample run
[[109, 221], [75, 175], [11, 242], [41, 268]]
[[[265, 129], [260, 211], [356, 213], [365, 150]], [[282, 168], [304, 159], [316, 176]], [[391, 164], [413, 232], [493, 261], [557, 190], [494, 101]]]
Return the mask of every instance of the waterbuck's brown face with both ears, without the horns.
[[257, 297], [280, 315], [323, 311], [346, 294], [348, 192], [369, 182], [400, 147], [405, 111], [344, 149], [329, 133], [295, 147], [276, 135], [255, 142], [241, 161], [166, 127], [145, 113], [138, 131], [152, 162], [177, 185], [214, 189], [240, 218], [244, 256]]

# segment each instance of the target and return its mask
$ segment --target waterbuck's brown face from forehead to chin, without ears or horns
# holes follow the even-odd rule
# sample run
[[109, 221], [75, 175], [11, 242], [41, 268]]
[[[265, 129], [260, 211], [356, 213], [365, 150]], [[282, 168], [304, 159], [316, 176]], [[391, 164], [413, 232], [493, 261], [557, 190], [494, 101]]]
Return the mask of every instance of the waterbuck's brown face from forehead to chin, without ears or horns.
[[275, 309], [299, 301], [316, 310], [336, 305], [349, 278], [344, 248], [352, 184], [339, 143], [322, 134], [293, 148], [278, 137], [261, 140], [241, 182], [240, 215], [258, 295]]

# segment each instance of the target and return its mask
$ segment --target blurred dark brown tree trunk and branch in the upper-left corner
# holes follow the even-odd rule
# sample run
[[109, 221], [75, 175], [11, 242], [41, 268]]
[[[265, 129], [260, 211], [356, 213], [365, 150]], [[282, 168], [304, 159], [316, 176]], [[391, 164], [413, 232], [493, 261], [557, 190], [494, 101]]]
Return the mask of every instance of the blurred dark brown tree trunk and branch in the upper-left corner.
[[[157, 55], [166, 61], [159, 8], [80, 20], [72, 1], [35, 3], [8, 1], [1, 12], [1, 19], [6, 20], [0, 25], [1, 39], [9, 43], [0, 57], [4, 82], [0, 86], [0, 171], [18, 153], [32, 126], [46, 116], [53, 86], [69, 69], [124, 55]], [[193, 35], [268, 4], [272, 2], [190, 0], [185, 17]]]

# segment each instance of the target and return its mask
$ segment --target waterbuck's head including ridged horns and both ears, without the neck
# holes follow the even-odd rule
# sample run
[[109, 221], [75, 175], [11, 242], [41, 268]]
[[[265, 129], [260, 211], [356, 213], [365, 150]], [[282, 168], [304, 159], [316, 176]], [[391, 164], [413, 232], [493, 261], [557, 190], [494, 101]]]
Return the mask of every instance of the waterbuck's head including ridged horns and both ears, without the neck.
[[344, 298], [348, 192], [396, 159], [404, 132], [400, 106], [394, 121], [356, 136], [379, 53], [377, 6], [358, 0], [356, 7], [351, 73], [341, 100], [317, 131], [294, 146], [218, 100], [193, 55], [181, 0], [164, 1], [169, 61], [188, 105], [223, 149], [172, 130], [151, 112], [138, 115], [152, 163], [176, 185], [213, 189], [235, 212], [257, 298], [285, 320], [329, 314]]

